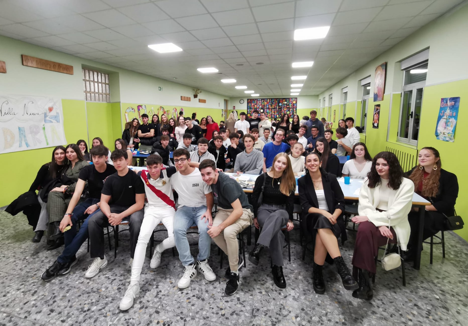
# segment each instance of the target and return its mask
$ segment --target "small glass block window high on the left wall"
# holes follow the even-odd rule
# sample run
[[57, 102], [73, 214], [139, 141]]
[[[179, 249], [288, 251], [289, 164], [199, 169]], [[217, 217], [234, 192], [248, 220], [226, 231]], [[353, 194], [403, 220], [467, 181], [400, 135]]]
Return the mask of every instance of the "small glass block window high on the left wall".
[[81, 69], [85, 101], [110, 102], [109, 74]]

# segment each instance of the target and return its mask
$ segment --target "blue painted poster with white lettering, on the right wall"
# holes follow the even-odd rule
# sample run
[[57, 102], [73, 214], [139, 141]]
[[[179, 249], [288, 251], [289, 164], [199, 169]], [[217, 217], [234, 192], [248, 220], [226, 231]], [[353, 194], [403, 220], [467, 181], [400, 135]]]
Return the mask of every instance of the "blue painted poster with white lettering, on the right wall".
[[458, 120], [460, 97], [445, 97], [440, 99], [439, 116], [437, 117], [436, 139], [453, 142], [455, 127]]

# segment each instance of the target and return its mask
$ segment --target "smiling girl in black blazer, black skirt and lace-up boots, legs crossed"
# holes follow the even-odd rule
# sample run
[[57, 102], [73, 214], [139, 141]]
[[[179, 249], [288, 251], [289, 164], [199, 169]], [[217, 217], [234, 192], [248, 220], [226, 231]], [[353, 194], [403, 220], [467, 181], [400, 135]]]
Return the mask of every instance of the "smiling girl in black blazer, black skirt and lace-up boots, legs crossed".
[[343, 286], [347, 290], [358, 289], [358, 283], [352, 277], [341, 257], [337, 237], [346, 240], [344, 228], [344, 195], [336, 175], [321, 168], [320, 156], [312, 152], [306, 156], [305, 176], [298, 180], [299, 198], [302, 206], [302, 228], [314, 241], [314, 291], [325, 293], [322, 267], [327, 253], [331, 256]]

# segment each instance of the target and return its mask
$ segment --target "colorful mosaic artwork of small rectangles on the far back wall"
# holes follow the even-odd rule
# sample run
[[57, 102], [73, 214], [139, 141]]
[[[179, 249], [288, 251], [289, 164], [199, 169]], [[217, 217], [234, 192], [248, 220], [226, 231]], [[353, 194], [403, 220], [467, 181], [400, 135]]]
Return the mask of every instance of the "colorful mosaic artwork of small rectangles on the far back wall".
[[292, 117], [297, 111], [297, 97], [292, 98], [248, 98], [247, 115], [252, 116], [252, 111], [265, 112], [267, 118], [277, 119], [283, 114]]

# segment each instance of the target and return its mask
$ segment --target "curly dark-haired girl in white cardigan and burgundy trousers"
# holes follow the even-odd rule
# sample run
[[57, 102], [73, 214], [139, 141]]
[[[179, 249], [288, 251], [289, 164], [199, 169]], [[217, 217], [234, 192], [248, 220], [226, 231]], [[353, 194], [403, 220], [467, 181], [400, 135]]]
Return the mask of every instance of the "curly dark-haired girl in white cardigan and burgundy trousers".
[[413, 193], [414, 184], [403, 177], [395, 154], [377, 154], [359, 193], [359, 215], [351, 219], [359, 223], [352, 258], [353, 276], [359, 283], [359, 289], [352, 293], [355, 298], [372, 299], [369, 274], [375, 274], [375, 257], [388, 238], [406, 250]]

